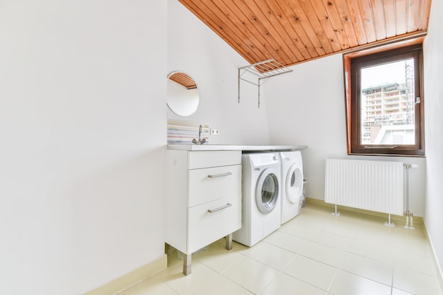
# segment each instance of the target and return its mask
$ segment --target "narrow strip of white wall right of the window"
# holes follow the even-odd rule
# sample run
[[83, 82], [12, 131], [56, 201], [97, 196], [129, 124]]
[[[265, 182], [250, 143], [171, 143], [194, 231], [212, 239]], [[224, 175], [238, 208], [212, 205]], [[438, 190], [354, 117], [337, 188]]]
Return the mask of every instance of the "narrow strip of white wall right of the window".
[[425, 225], [443, 267], [443, 3], [432, 1], [424, 45], [427, 183]]

